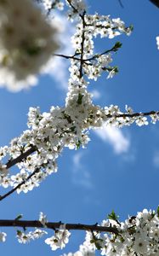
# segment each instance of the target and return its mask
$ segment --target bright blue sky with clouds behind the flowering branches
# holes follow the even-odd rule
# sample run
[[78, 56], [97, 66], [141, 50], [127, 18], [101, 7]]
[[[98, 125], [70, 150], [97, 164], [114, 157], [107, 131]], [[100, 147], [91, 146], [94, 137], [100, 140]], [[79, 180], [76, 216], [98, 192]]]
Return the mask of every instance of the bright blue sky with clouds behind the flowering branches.
[[[88, 1], [89, 12], [121, 17], [127, 25], [133, 24], [130, 37], [111, 40], [122, 42], [122, 49], [114, 55], [114, 64], [120, 72], [114, 79], [102, 76], [90, 85], [94, 103], [101, 106], [116, 104], [122, 110], [125, 105], [134, 111], [159, 110], [159, 51], [156, 36], [159, 35], [159, 9], [145, 0]], [[67, 39], [68, 40], [68, 39]], [[69, 45], [68, 42], [64, 42]], [[105, 50], [109, 39], [97, 40], [96, 49]], [[10, 139], [26, 129], [29, 107], [39, 106], [48, 111], [50, 106], [65, 104], [64, 84], [67, 83], [67, 67], [59, 69], [62, 81], [45, 75], [39, 84], [28, 91], [11, 93], [0, 89], [0, 142]], [[62, 85], [61, 85], [62, 84]], [[105, 218], [112, 209], [124, 220], [144, 208], [156, 209], [159, 181], [159, 124], [139, 127], [132, 125], [119, 131], [90, 131], [91, 142], [86, 149], [65, 149], [58, 160], [59, 171], [48, 177], [40, 187], [28, 194], [14, 194], [0, 203], [0, 218], [37, 219], [39, 212], [47, 214], [50, 221], [95, 224]], [[0, 188], [0, 193], [4, 190]], [[1, 228], [8, 233], [0, 244], [3, 255], [61, 255], [75, 252], [84, 233], [73, 232], [64, 251], [52, 252], [43, 240], [21, 245], [14, 239], [16, 229]], [[49, 232], [51, 236], [51, 232]]]

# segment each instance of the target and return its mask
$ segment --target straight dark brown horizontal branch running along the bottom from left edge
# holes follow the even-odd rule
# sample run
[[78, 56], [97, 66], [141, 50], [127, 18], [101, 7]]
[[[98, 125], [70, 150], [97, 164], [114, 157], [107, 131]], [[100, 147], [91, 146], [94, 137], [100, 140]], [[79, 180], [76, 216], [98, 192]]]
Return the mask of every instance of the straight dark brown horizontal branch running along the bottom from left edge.
[[[48, 222], [46, 227], [38, 220], [16, 220], [16, 219], [0, 219], [1, 227], [22, 227], [22, 228], [48, 228], [56, 230], [60, 228], [61, 222]], [[99, 232], [111, 232], [118, 234], [119, 231], [115, 227], [103, 227], [90, 224], [65, 224], [66, 230], [91, 230]]]

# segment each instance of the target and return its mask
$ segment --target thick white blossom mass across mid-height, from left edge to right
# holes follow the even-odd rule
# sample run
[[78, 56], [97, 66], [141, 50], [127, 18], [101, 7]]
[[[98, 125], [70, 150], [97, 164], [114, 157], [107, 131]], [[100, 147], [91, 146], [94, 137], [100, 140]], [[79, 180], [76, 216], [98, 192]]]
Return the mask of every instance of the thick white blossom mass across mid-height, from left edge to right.
[[[0, 183], [4, 188], [9, 186], [16, 187], [23, 183], [17, 192], [29, 190], [37, 187], [45, 177], [53, 172], [57, 172], [56, 159], [64, 147], [79, 148], [85, 147], [89, 141], [88, 130], [90, 128], [99, 128], [105, 125], [131, 125], [136, 122], [137, 125], [147, 125], [146, 117], [126, 116], [117, 106], [111, 105], [106, 108], [94, 106], [91, 95], [86, 88], [75, 88], [68, 93], [65, 108], [50, 109], [50, 113], [41, 113], [39, 108], [30, 108], [28, 114], [28, 126], [23, 134], [12, 140], [9, 147], [0, 148], [0, 160], [6, 159], [6, 156], [13, 160], [26, 152], [32, 146], [37, 150], [28, 155], [26, 159], [17, 163], [20, 172], [11, 174], [6, 165], [0, 169]], [[153, 122], [158, 119], [154, 114]], [[28, 177], [35, 170], [38, 170], [31, 178]]]

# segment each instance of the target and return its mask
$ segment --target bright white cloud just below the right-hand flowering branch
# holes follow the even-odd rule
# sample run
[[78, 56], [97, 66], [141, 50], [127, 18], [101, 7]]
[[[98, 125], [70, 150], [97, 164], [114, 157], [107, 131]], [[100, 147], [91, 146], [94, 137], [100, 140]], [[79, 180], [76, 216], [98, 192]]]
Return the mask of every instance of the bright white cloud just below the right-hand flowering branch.
[[130, 141], [120, 129], [107, 125], [94, 131], [104, 142], [111, 144], [116, 154], [128, 152]]

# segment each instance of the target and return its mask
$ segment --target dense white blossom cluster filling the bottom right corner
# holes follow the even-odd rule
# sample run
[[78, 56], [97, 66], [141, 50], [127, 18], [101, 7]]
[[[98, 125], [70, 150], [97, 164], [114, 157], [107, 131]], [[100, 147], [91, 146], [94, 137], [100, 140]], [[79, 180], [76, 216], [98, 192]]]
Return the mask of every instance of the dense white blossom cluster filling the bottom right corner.
[[124, 223], [117, 219], [103, 220], [101, 226], [115, 227], [118, 234], [102, 235], [97, 231], [87, 231], [79, 251], [67, 256], [94, 256], [95, 250], [106, 256], [159, 255], [159, 216], [155, 211], [144, 209]]

